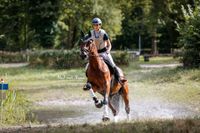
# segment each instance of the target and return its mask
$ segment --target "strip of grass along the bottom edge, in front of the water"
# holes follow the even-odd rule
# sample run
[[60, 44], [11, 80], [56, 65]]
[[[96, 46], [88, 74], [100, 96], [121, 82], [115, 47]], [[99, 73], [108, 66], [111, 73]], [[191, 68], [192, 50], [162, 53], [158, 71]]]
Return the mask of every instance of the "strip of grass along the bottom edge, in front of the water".
[[36, 128], [7, 129], [6, 132], [20, 133], [198, 133], [199, 119], [151, 120], [137, 122], [107, 123], [97, 125], [59, 125]]

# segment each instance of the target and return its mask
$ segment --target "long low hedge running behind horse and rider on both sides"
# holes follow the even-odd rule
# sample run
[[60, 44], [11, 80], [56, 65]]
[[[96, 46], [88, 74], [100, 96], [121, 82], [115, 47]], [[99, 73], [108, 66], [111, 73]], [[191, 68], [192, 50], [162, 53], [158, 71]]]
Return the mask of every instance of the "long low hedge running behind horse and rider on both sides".
[[[40, 50], [33, 52], [0, 52], [0, 63], [20, 63], [29, 60], [32, 67], [46, 68], [74, 68], [82, 67], [86, 63], [80, 58], [80, 50]], [[132, 60], [127, 51], [112, 52], [113, 59], [117, 65], [128, 65]]]

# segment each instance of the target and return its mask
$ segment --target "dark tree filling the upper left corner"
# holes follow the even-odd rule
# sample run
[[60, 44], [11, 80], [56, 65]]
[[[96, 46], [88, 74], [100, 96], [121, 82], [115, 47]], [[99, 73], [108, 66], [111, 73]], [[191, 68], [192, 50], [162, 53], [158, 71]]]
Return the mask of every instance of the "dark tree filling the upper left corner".
[[25, 49], [23, 43], [24, 0], [0, 2], [0, 49], [17, 51]]

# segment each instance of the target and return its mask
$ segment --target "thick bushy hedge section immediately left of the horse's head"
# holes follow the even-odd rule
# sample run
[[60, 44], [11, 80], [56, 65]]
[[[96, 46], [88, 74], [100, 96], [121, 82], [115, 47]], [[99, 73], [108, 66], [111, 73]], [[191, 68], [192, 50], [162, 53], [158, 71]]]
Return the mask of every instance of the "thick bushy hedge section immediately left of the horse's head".
[[84, 61], [79, 55], [76, 49], [35, 51], [30, 54], [30, 65], [59, 69], [80, 67]]

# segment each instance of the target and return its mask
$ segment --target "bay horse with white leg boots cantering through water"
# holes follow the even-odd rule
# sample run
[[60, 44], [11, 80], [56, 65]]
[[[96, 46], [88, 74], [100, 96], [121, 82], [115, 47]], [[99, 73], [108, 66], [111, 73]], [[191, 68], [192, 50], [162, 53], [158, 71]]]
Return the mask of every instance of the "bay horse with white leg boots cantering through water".
[[[97, 108], [104, 105], [103, 121], [109, 121], [108, 107], [112, 110], [114, 121], [118, 120], [119, 113], [119, 97], [122, 96], [125, 103], [125, 111], [127, 119], [130, 119], [130, 106], [129, 106], [129, 89], [127, 81], [120, 84], [113, 73], [109, 70], [108, 65], [104, 62], [103, 58], [98, 54], [95, 42], [93, 40], [83, 40], [80, 46], [81, 57], [89, 59], [89, 65], [86, 70], [87, 84], [86, 88], [90, 91], [91, 96]], [[119, 69], [119, 68], [118, 68]], [[120, 76], [124, 76], [121, 69]], [[97, 99], [94, 92], [100, 93], [104, 98], [103, 101]], [[117, 101], [113, 102], [114, 97], [117, 96]]]

